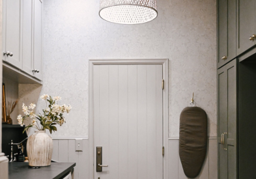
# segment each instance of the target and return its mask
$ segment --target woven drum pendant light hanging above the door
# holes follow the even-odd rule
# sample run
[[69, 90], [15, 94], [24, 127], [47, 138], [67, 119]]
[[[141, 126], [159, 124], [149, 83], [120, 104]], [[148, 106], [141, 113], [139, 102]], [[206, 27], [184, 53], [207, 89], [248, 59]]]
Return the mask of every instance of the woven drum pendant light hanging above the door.
[[138, 24], [158, 16], [156, 0], [100, 0], [100, 17], [121, 24]]

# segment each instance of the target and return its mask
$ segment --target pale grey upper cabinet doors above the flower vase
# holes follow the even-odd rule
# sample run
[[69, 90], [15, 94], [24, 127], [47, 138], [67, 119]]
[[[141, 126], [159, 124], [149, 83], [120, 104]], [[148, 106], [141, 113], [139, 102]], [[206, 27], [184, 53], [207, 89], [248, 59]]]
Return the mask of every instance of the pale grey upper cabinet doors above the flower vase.
[[4, 0], [3, 61], [42, 80], [42, 0]]

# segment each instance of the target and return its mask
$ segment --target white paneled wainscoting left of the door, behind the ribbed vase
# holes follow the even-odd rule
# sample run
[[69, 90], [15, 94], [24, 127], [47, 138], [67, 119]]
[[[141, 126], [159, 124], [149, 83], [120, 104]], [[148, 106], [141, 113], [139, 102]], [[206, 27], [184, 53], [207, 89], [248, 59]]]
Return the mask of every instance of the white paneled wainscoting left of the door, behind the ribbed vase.
[[76, 152], [76, 139], [55, 139], [53, 137], [53, 157], [59, 162], [76, 162], [74, 179], [89, 178], [89, 141], [83, 140], [83, 152]]

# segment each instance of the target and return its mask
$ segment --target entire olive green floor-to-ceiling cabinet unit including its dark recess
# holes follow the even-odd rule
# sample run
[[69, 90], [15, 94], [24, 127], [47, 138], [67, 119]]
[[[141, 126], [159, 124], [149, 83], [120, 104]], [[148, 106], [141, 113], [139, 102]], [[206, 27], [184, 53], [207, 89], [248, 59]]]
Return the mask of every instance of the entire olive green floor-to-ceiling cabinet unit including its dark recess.
[[217, 10], [218, 178], [256, 178], [256, 1]]

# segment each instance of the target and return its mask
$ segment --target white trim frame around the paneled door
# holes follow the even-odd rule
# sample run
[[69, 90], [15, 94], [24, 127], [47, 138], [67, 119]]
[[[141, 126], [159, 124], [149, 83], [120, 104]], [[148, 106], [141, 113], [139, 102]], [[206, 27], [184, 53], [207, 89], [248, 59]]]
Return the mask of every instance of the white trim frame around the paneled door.
[[89, 178], [94, 178], [94, 124], [93, 124], [93, 66], [94, 65], [110, 65], [110, 64], [162, 64], [163, 65], [163, 140], [164, 140], [164, 179], [168, 178], [168, 113], [169, 113], [169, 60], [168, 59], [92, 59], [89, 60]]

